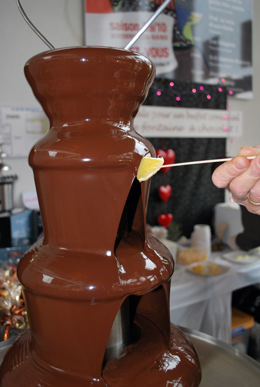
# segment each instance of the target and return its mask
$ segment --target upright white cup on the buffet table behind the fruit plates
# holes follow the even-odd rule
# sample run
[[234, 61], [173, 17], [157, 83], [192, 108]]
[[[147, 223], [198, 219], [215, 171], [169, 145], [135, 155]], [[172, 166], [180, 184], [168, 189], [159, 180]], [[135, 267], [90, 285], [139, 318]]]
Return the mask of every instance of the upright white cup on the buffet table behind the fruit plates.
[[191, 233], [191, 247], [206, 254], [207, 258], [209, 257], [211, 252], [211, 230], [208, 224], [196, 224], [194, 226]]

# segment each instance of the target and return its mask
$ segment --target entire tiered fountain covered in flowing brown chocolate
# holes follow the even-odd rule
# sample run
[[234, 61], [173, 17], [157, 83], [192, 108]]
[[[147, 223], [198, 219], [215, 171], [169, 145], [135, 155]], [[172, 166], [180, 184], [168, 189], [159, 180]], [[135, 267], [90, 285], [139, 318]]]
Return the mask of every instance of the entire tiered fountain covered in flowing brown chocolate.
[[174, 262], [146, 234], [155, 157], [133, 120], [155, 76], [146, 57], [101, 47], [53, 49], [26, 78], [50, 120], [29, 164], [44, 239], [21, 259], [30, 330], [7, 351], [1, 387], [196, 387], [197, 354], [170, 323]]

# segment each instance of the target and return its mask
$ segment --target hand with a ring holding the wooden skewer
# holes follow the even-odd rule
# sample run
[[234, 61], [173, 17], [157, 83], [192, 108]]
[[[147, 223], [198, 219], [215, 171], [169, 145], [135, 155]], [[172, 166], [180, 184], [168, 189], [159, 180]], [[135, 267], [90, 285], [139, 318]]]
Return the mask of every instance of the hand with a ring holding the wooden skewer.
[[[256, 158], [250, 161], [247, 156]], [[238, 156], [214, 170], [212, 181], [218, 188], [229, 188], [236, 203], [260, 215], [260, 145], [243, 146]]]

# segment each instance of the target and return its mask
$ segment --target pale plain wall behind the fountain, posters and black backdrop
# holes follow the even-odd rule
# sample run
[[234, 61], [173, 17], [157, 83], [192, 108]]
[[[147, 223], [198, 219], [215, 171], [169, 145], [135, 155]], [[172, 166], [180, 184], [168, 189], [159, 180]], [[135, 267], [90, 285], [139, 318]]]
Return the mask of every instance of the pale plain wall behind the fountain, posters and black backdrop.
[[[83, 45], [83, 0], [22, 0], [22, 5], [28, 18], [55, 48]], [[244, 117], [244, 135], [235, 139], [234, 144], [228, 140], [229, 155], [235, 155], [242, 145], [260, 143], [259, 17], [260, 1], [254, 0], [254, 99], [229, 98], [230, 108], [242, 111]], [[0, 0], [0, 106], [38, 106], [23, 69], [28, 58], [47, 49], [22, 18], [16, 1]], [[21, 206], [21, 193], [34, 189], [32, 171], [26, 158], [8, 159], [7, 163], [12, 173], [19, 176], [14, 186], [14, 201]]]

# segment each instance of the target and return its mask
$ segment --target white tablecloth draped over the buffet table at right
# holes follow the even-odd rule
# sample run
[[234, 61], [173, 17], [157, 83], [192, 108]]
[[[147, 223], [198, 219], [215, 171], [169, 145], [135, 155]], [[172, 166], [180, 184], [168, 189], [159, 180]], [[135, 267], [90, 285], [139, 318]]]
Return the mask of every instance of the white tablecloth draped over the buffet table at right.
[[217, 276], [190, 273], [176, 265], [171, 281], [171, 321], [182, 327], [231, 342], [232, 291], [260, 283], [260, 260], [254, 264], [233, 264], [213, 253], [209, 258], [229, 270]]

